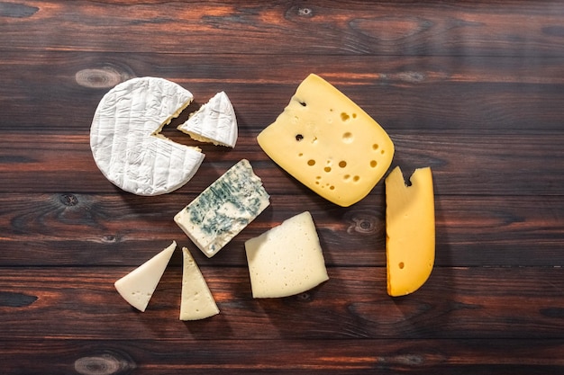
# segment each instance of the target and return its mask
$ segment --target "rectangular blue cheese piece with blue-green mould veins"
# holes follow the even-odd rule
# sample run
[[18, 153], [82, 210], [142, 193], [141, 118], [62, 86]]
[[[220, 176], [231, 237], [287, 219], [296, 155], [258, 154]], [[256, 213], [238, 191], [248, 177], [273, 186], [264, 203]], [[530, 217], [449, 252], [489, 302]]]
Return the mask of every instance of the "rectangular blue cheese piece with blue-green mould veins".
[[174, 217], [208, 257], [214, 256], [270, 204], [268, 192], [242, 159]]

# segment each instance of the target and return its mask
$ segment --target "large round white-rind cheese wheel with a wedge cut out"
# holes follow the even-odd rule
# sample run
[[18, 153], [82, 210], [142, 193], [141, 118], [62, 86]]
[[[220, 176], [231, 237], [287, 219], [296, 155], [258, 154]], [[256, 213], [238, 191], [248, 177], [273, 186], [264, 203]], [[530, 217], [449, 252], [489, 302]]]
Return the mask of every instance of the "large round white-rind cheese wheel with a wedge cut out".
[[105, 177], [126, 192], [159, 195], [188, 182], [204, 160], [159, 132], [193, 95], [163, 78], [132, 78], [104, 95], [90, 129], [90, 147]]

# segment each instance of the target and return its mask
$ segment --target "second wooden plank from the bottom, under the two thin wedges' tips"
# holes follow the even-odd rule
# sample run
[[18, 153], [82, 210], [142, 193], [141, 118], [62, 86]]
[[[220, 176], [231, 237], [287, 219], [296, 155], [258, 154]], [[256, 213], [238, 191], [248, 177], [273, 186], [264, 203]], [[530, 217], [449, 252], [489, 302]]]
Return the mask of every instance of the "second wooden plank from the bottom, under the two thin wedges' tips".
[[10, 300], [25, 303], [0, 303], [0, 329], [12, 339], [155, 341], [559, 339], [564, 329], [559, 267], [437, 267], [421, 290], [399, 299], [386, 294], [385, 267], [331, 267], [329, 281], [285, 299], [252, 299], [246, 267], [201, 269], [220, 315], [181, 322], [181, 267], [168, 268], [145, 313], [114, 290], [132, 267], [4, 268]]

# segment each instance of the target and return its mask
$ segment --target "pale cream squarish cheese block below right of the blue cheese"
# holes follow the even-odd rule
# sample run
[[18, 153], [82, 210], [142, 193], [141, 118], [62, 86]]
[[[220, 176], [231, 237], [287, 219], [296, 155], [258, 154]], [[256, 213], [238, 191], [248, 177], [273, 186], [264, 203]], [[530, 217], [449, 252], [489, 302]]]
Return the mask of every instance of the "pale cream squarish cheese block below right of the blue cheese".
[[245, 242], [254, 298], [287, 297], [329, 279], [308, 211]]

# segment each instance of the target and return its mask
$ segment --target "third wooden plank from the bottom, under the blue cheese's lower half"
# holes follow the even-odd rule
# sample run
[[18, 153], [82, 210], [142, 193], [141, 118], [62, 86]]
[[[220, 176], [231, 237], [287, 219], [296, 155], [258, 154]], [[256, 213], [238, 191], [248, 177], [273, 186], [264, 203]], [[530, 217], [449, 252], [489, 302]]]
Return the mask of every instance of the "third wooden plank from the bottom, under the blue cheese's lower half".
[[[274, 195], [271, 207], [212, 260], [197, 250], [172, 219], [194, 196], [0, 196], [0, 223], [8, 223], [0, 227], [4, 233], [0, 265], [134, 266], [175, 240], [179, 246], [194, 249], [199, 262], [245, 266], [246, 240], [303, 210], [314, 217], [328, 265], [386, 265], [385, 202], [381, 194], [347, 209], [317, 198]], [[564, 266], [563, 211], [561, 197], [438, 196], [435, 264]], [[82, 234], [76, 236], [77, 232]], [[181, 263], [179, 254], [172, 263]]]

